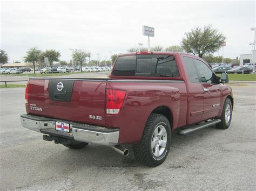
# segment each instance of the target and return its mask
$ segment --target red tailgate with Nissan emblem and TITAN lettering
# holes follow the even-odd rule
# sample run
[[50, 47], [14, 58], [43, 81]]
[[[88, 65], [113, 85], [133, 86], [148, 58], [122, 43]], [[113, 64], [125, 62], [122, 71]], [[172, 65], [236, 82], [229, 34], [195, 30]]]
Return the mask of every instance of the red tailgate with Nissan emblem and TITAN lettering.
[[105, 125], [104, 79], [30, 79], [28, 114]]

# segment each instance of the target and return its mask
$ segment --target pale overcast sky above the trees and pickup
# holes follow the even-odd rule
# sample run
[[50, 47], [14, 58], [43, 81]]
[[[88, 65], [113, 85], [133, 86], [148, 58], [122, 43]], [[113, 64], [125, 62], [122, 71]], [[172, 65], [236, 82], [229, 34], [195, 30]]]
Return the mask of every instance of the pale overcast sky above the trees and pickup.
[[236, 58], [251, 53], [255, 6], [255, 1], [0, 1], [0, 48], [9, 62], [22, 62], [31, 47], [56, 49], [68, 62], [71, 48], [109, 60], [138, 43], [147, 47], [143, 25], [154, 27], [150, 46], [168, 47], [180, 45], [193, 27], [211, 24], [227, 38], [224, 57]]

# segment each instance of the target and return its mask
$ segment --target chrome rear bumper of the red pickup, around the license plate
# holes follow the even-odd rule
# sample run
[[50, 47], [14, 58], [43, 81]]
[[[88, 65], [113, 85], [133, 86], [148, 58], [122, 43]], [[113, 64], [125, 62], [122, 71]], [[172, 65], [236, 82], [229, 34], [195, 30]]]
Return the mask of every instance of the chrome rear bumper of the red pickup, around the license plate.
[[64, 137], [78, 142], [93, 143], [99, 145], [117, 145], [119, 129], [107, 129], [100, 126], [70, 123], [70, 133], [55, 130], [55, 122], [62, 121], [33, 115], [21, 115], [21, 124], [24, 128], [49, 134], [56, 137]]

